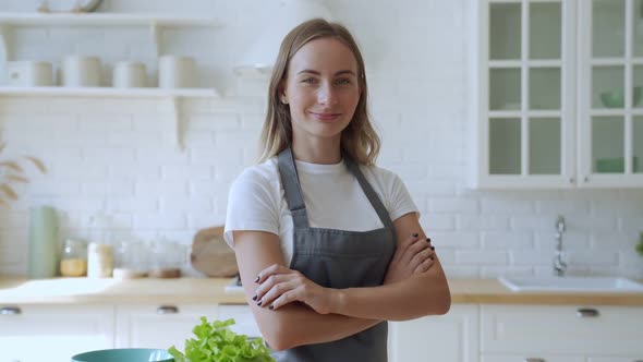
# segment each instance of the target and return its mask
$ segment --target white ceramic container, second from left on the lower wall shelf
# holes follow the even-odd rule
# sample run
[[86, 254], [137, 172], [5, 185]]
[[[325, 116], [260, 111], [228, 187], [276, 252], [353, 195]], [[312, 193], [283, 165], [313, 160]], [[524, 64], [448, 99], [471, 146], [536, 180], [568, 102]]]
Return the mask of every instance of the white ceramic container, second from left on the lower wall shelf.
[[101, 65], [97, 57], [68, 56], [62, 61], [62, 85], [66, 87], [100, 86]]

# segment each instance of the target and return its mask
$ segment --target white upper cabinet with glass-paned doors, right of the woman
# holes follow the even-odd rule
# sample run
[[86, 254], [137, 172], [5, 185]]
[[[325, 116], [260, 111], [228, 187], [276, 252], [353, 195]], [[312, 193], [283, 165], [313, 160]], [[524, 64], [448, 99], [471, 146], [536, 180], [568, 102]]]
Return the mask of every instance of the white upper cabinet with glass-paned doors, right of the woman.
[[472, 185], [643, 188], [643, 0], [472, 3]]

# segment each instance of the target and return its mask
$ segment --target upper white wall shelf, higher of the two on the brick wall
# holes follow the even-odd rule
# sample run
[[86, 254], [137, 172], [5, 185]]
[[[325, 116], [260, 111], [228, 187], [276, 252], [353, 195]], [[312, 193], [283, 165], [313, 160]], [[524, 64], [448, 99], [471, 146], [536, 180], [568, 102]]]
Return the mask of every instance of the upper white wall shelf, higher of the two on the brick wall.
[[2, 13], [0, 14], [0, 24], [33, 26], [222, 26], [221, 22], [213, 17], [118, 13]]

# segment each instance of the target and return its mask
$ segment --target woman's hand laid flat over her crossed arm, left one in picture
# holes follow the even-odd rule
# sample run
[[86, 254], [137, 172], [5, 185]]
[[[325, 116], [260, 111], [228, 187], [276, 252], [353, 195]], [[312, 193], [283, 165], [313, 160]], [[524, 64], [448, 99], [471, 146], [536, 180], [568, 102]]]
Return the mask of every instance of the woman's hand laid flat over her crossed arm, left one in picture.
[[291, 302], [302, 302], [319, 314], [330, 313], [332, 294], [298, 270], [275, 264], [259, 273], [259, 287], [253, 300], [257, 305], [277, 310]]

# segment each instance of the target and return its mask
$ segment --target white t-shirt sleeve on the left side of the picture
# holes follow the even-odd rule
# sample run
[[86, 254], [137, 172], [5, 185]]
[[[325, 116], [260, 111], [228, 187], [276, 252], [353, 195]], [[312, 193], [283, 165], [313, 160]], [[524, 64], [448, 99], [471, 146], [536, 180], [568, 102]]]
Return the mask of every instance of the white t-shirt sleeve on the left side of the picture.
[[255, 230], [279, 234], [279, 213], [270, 182], [252, 169], [234, 180], [228, 195], [223, 238], [234, 248], [232, 231]]

